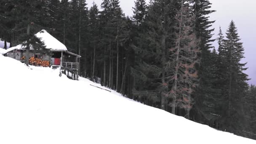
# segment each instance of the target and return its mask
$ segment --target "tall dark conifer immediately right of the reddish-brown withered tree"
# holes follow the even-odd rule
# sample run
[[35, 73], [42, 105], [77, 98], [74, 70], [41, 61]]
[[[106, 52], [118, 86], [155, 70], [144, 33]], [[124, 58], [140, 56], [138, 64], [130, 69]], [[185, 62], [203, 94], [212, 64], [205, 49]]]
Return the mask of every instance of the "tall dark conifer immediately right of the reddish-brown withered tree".
[[[195, 34], [197, 39], [200, 40], [199, 48], [201, 51], [200, 58], [201, 64], [197, 67], [198, 78], [200, 79], [199, 85], [196, 88], [193, 97], [195, 99], [195, 105], [192, 109], [196, 115], [192, 116], [196, 121], [209, 121], [210, 117], [205, 115], [208, 111], [208, 107], [205, 105], [208, 103], [209, 98], [213, 98], [215, 90], [213, 89], [213, 79], [215, 69], [212, 69], [211, 61], [211, 48], [214, 40], [211, 40], [214, 29], [211, 29], [214, 21], [209, 20], [209, 14], [213, 13], [210, 10], [211, 3], [209, 0], [194, 0], [194, 14], [195, 14]], [[203, 120], [204, 119], [204, 120]], [[208, 123], [205, 123], [208, 124]]]

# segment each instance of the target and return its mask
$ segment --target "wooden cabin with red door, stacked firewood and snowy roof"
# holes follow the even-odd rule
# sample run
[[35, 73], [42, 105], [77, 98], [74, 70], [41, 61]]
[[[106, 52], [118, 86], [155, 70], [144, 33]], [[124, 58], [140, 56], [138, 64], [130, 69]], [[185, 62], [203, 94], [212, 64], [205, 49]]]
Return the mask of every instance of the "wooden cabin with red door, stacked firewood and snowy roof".
[[[74, 80], [78, 79], [78, 59], [81, 57], [75, 53], [67, 51], [67, 47], [59, 42], [55, 37], [50, 35], [46, 30], [41, 30], [36, 34], [45, 43], [45, 48], [50, 50], [50, 53], [36, 53], [33, 48], [30, 48], [29, 59], [37, 59], [40, 61], [48, 61], [49, 67], [60, 68], [60, 76], [62, 73]], [[4, 56], [11, 57], [18, 61], [24, 62], [26, 56], [25, 48], [20, 44], [12, 48], [8, 48]], [[32, 64], [33, 65], [33, 64]]]

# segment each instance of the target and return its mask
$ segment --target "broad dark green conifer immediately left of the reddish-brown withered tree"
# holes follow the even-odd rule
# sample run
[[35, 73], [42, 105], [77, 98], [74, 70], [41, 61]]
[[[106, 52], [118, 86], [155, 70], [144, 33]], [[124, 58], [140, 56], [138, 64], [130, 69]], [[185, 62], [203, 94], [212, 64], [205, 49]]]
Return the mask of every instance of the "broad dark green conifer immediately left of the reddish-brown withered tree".
[[139, 31], [137, 45], [134, 45], [136, 65], [133, 69], [135, 85], [133, 94], [149, 99], [166, 109], [168, 104], [168, 48], [173, 44], [174, 13], [172, 1], [159, 0], [151, 3], [144, 29]]

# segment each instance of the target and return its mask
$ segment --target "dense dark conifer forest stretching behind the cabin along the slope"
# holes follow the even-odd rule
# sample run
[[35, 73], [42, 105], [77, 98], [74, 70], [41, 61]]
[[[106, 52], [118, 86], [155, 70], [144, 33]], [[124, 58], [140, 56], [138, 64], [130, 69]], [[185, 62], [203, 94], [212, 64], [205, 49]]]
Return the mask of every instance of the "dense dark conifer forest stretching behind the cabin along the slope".
[[[256, 139], [256, 88], [231, 21], [214, 48], [209, 0], [1, 0], [0, 39], [37, 45], [41, 29], [82, 56], [79, 75], [130, 99], [221, 131]], [[86, 92], [85, 92], [86, 93]]]

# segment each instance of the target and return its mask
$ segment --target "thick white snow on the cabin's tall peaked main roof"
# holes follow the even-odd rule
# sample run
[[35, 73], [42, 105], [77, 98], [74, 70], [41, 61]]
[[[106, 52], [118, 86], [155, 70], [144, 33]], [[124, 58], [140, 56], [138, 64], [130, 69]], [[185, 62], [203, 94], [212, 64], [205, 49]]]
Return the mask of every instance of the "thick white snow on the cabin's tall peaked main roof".
[[55, 37], [50, 35], [46, 30], [43, 29], [35, 35], [38, 38], [41, 38], [41, 41], [45, 43], [46, 48], [53, 51], [67, 51], [67, 47]]

